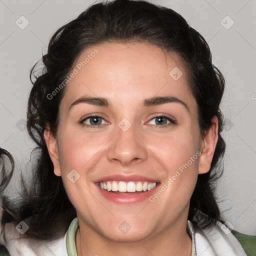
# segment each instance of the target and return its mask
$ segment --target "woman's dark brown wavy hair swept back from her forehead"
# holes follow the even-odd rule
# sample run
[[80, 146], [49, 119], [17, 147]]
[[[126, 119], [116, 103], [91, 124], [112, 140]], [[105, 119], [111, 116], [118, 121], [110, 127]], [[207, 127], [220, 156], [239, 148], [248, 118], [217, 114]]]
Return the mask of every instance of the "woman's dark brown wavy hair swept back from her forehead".
[[177, 12], [143, 0], [113, 0], [93, 4], [61, 26], [52, 35], [47, 53], [42, 55], [43, 68], [38, 71], [37, 61], [30, 71], [32, 89], [27, 106], [27, 130], [37, 144], [33, 150], [37, 162], [31, 169], [31, 185], [27, 187], [21, 176], [21, 195], [11, 201], [4, 189], [12, 176], [14, 161], [9, 152], [0, 149], [2, 228], [7, 222], [25, 220], [29, 225], [26, 234], [42, 239], [52, 239], [66, 231], [76, 211], [66, 195], [61, 177], [53, 172], [43, 137], [46, 123], [56, 134], [58, 106], [65, 90], [60, 90], [53, 99], [48, 99], [47, 95], [65, 79], [85, 48], [103, 42], [131, 41], [156, 45], [165, 53], [175, 52], [181, 58], [197, 102], [202, 135], [210, 127], [211, 118], [214, 115], [218, 118], [218, 140], [211, 166], [207, 173], [198, 175], [188, 219], [192, 220], [200, 210], [209, 216], [204, 226], [219, 220], [214, 189], [223, 170], [225, 150], [220, 134], [223, 116], [219, 109], [224, 90], [223, 75], [212, 64], [211, 52], [203, 36]]

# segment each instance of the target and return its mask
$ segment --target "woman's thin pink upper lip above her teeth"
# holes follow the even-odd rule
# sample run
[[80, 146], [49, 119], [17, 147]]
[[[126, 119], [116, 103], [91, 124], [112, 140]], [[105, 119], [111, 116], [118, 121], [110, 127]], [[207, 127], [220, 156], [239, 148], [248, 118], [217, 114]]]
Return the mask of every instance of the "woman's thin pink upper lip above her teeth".
[[149, 182], [159, 182], [159, 180], [155, 178], [149, 178], [143, 175], [137, 175], [137, 174], [112, 174], [108, 176], [104, 176], [101, 178], [96, 179], [94, 182], [103, 182], [103, 181], [149, 181]]

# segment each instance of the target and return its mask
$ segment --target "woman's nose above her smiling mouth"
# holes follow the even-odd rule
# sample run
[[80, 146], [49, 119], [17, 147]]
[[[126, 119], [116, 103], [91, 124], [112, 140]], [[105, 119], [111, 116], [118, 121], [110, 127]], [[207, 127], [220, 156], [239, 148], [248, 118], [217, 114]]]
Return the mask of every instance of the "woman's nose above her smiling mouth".
[[144, 161], [147, 157], [147, 147], [139, 134], [135, 134], [133, 125], [126, 131], [119, 127], [116, 130], [116, 135], [110, 140], [111, 146], [107, 151], [108, 160], [120, 162], [125, 166]]

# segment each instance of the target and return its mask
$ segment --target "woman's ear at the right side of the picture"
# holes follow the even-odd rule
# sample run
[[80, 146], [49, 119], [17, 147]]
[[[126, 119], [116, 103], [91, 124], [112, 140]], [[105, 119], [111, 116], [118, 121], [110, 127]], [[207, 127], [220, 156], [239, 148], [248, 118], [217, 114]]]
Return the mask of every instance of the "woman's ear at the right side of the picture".
[[211, 126], [205, 132], [200, 144], [198, 174], [206, 173], [210, 169], [210, 164], [218, 140], [218, 118], [214, 115], [211, 118]]

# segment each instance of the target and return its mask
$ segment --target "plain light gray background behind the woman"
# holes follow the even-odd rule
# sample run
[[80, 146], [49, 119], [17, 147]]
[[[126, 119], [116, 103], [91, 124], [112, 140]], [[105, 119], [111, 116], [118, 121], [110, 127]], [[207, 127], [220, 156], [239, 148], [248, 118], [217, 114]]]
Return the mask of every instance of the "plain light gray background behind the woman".
[[[0, 146], [14, 155], [17, 173], [25, 168], [34, 146], [24, 130], [29, 70], [46, 52], [53, 32], [94, 2], [0, 0]], [[256, 234], [256, 1], [151, 2], [174, 9], [198, 30], [210, 46], [213, 63], [225, 76], [221, 109], [227, 148], [217, 189], [219, 206], [230, 227]], [[19, 26], [25, 19], [20, 16], [29, 22], [23, 29]], [[17, 179], [12, 188], [18, 188]]]

